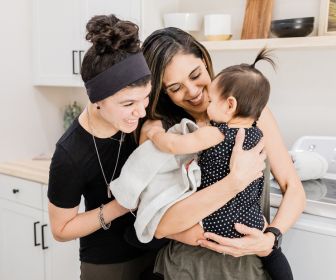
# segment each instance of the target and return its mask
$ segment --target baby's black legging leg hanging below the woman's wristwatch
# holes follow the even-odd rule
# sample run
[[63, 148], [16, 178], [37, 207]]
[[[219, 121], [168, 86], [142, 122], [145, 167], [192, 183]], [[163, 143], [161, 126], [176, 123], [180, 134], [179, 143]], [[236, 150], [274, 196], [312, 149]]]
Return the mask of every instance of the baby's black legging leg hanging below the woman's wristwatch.
[[260, 259], [272, 280], [293, 280], [292, 269], [281, 248], [273, 250], [267, 257]]

